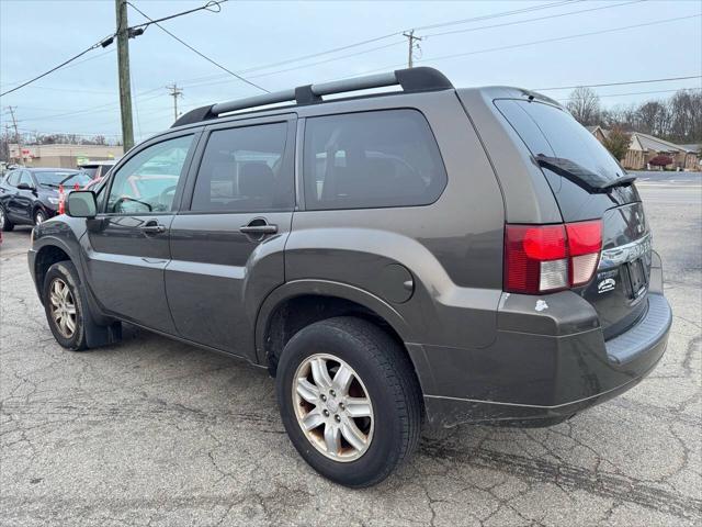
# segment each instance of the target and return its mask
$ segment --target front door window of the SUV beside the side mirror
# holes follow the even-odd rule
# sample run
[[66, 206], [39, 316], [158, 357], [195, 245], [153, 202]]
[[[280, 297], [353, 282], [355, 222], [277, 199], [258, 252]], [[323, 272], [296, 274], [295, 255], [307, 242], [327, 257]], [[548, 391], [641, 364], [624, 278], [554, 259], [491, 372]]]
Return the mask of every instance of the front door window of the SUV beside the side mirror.
[[169, 212], [192, 142], [192, 135], [163, 141], [125, 162], [114, 175], [105, 212]]

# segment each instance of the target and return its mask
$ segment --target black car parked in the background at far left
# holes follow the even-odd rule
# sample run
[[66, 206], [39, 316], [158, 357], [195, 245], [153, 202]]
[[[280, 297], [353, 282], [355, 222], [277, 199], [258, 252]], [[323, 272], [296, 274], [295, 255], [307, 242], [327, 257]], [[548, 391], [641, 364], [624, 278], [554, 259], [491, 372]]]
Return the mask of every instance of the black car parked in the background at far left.
[[60, 190], [70, 191], [90, 181], [81, 170], [63, 168], [18, 168], [0, 180], [0, 228], [37, 225], [57, 214]]

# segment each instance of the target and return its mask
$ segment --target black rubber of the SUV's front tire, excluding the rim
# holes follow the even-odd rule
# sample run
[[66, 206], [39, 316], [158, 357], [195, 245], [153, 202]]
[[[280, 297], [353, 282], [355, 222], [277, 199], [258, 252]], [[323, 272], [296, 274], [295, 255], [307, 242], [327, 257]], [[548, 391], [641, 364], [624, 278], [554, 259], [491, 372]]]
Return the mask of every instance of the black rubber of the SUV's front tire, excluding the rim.
[[[61, 281], [68, 287], [70, 295], [73, 300], [72, 304], [75, 305], [76, 311], [76, 322], [75, 322], [75, 330], [72, 335], [66, 336], [61, 333], [59, 324], [56, 322], [52, 314], [52, 288], [54, 288], [54, 283], [56, 281]], [[46, 271], [46, 277], [44, 278], [44, 287], [42, 289], [42, 299], [44, 300], [44, 311], [46, 312], [46, 319], [48, 322], [48, 327], [52, 329], [56, 341], [60, 344], [64, 348], [70, 349], [71, 351], [82, 351], [88, 349], [88, 341], [86, 338], [86, 317], [87, 310], [89, 309], [84, 302], [84, 299], [81, 295], [80, 287], [80, 278], [78, 277], [78, 271], [76, 270], [76, 266], [70, 260], [59, 261], [54, 264]]]

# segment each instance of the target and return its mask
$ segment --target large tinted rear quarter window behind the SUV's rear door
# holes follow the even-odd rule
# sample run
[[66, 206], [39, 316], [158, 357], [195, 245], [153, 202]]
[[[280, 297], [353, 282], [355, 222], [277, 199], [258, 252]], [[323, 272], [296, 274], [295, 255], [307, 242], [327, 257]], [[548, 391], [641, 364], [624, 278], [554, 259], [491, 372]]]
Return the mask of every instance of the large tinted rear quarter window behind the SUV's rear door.
[[427, 205], [446, 186], [437, 141], [416, 110], [310, 117], [304, 150], [308, 210]]

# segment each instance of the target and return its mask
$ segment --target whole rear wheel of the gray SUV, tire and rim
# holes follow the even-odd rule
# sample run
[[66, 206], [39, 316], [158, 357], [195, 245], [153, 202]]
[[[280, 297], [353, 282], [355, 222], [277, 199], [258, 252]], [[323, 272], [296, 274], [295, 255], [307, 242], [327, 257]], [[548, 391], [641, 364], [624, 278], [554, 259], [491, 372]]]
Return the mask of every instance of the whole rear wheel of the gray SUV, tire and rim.
[[342, 485], [378, 483], [418, 442], [421, 395], [412, 366], [370, 322], [338, 317], [298, 332], [283, 350], [276, 388], [297, 451]]

